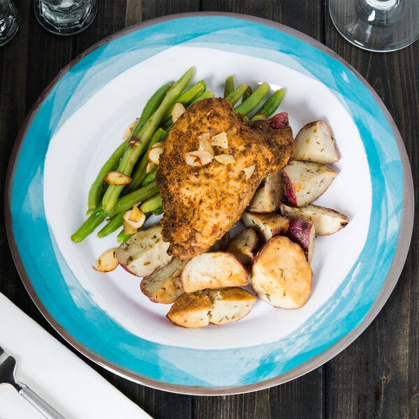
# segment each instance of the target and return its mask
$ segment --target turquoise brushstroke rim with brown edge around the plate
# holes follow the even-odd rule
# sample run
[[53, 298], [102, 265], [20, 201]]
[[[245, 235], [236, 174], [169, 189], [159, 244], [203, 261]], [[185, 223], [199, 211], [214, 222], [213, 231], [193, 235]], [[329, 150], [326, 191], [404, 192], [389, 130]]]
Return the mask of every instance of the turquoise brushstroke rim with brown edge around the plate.
[[[42, 202], [43, 159], [51, 136], [106, 82], [179, 44], [274, 61], [293, 57], [291, 64], [288, 60], [281, 64], [297, 65], [298, 71], [327, 85], [353, 116], [364, 142], [373, 189], [370, 228], [365, 249], [335, 294], [355, 287], [359, 297], [349, 297], [345, 307], [338, 309], [332, 307], [332, 297], [297, 332], [279, 342], [200, 351], [136, 337], [78, 289], [80, 284], [48, 230]], [[226, 395], [267, 388], [305, 374], [365, 330], [402, 271], [413, 229], [413, 205], [411, 170], [399, 132], [381, 100], [353, 68], [324, 45], [281, 24], [230, 13], [188, 13], [151, 20], [110, 36], [61, 71], [38, 98], [17, 138], [5, 207], [8, 240], [22, 281], [45, 318], [72, 346], [106, 369], [152, 388]], [[69, 286], [88, 309], [75, 305]], [[287, 358], [289, 348], [301, 344], [302, 337], [308, 343]], [[185, 360], [184, 367], [175, 365], [179, 360]]]

